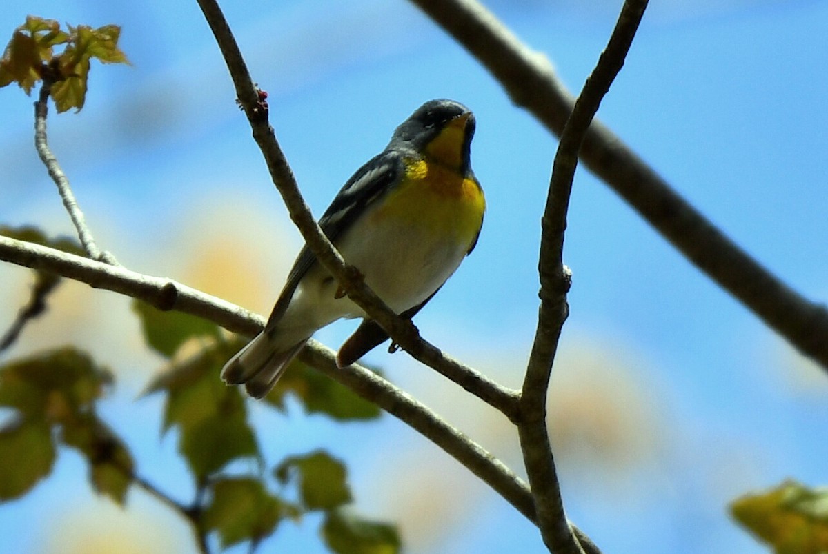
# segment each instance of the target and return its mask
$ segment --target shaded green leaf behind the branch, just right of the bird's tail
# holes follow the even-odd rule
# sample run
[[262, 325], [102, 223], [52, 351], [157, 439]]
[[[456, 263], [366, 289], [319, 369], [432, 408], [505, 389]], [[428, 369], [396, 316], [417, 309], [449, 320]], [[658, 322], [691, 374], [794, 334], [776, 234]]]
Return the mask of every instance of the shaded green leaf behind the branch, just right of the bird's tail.
[[295, 394], [307, 413], [324, 413], [340, 421], [376, 419], [382, 414], [373, 402], [364, 400], [299, 360], [291, 362], [265, 400], [284, 410], [287, 393]]

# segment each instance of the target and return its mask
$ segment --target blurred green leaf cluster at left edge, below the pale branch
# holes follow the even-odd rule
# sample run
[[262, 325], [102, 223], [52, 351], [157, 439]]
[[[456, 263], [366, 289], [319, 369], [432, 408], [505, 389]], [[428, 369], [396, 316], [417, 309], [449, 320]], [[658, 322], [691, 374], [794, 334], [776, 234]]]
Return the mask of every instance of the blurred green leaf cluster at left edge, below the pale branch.
[[111, 374], [67, 346], [0, 368], [0, 406], [12, 417], [0, 427], [0, 500], [20, 497], [49, 475], [58, 446], [89, 462], [96, 491], [123, 503], [132, 457], [96, 412]]

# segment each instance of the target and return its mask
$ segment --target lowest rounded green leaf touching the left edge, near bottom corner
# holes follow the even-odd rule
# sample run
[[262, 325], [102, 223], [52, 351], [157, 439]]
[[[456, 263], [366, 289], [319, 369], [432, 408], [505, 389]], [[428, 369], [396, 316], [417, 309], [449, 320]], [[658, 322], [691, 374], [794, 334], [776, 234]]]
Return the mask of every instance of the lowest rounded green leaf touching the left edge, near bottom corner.
[[0, 428], [0, 501], [25, 494], [54, 463], [55, 445], [45, 422], [17, 419]]

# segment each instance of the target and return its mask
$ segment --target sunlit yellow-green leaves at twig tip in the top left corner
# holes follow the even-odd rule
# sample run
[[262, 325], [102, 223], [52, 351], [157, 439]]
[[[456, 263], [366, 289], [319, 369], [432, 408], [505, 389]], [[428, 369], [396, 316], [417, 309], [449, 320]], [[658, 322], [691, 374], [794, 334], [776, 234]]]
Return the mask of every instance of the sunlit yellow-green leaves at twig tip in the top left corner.
[[[80, 111], [86, 101], [90, 61], [127, 64], [118, 48], [121, 27], [104, 25], [67, 25], [66, 30], [53, 19], [27, 16], [15, 29], [0, 58], [0, 87], [17, 85], [31, 94], [38, 81], [48, 82], [58, 112], [70, 108]], [[55, 46], [63, 51], [55, 53]]]

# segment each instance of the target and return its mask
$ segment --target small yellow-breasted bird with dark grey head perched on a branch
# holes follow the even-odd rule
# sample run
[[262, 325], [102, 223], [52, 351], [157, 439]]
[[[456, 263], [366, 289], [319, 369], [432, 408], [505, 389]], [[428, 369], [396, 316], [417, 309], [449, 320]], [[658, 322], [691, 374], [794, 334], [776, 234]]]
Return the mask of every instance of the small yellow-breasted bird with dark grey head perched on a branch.
[[[470, 166], [474, 125], [463, 104], [426, 102], [319, 220], [345, 262], [402, 317], [420, 311], [477, 243], [486, 202]], [[366, 315], [305, 245], [264, 330], [224, 365], [222, 378], [264, 397], [316, 330], [355, 317]], [[387, 339], [365, 319], [339, 348], [337, 364], [353, 364]]]

